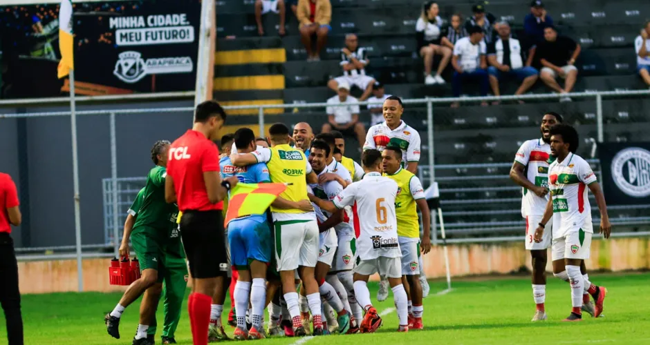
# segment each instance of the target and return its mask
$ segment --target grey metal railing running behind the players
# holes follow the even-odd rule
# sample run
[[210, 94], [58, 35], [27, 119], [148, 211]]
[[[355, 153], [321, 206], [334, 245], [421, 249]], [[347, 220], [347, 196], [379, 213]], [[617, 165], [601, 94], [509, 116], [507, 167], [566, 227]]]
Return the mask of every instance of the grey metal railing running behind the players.
[[[192, 92], [179, 92], [178, 95], [167, 95], [167, 98], [169, 97], [191, 97], [194, 95]], [[449, 176], [440, 176], [436, 178], [436, 170], [440, 171], [445, 168], [449, 168], [444, 165], [440, 166], [434, 166], [431, 164], [434, 162], [434, 157], [435, 157], [435, 147], [434, 147], [434, 105], [441, 104], [441, 103], [452, 103], [452, 102], [461, 102], [461, 103], [466, 103], [466, 102], [481, 102], [481, 101], [512, 101], [512, 100], [541, 100], [541, 99], [559, 99], [560, 97], [568, 96], [572, 97], [574, 99], [594, 99], [595, 100], [595, 105], [596, 105], [596, 127], [597, 127], [597, 141], [602, 142], [604, 140], [604, 120], [603, 120], [603, 106], [602, 106], [602, 99], [603, 97], [629, 97], [629, 96], [649, 96], [650, 95], [650, 90], [620, 90], [620, 91], [607, 91], [607, 92], [574, 92], [570, 93], [568, 95], [558, 95], [558, 94], [544, 94], [544, 95], [508, 95], [508, 96], [500, 96], [500, 97], [459, 97], [459, 98], [452, 98], [452, 97], [444, 97], [444, 98], [424, 98], [424, 99], [404, 99], [403, 103], [407, 105], [425, 105], [427, 109], [427, 116], [426, 120], [423, 121], [426, 126], [427, 126], [427, 132], [424, 135], [421, 135], [421, 137], [426, 137], [426, 144], [423, 145], [423, 151], [427, 151], [427, 158], [429, 164], [423, 164], [421, 167], [421, 171], [424, 173], [421, 175], [423, 183], [429, 182], [431, 180], [438, 181], [442, 186], [443, 193], [473, 193], [473, 192], [514, 192], [515, 190], [519, 189], [516, 186], [485, 186], [485, 188], [482, 187], [470, 187], [470, 188], [454, 188], [452, 187], [444, 187], [444, 183], [447, 181], [460, 181], [463, 179], [472, 179], [473, 177], [471, 176], [454, 176], [454, 177], [449, 177]], [[139, 99], [152, 99], [155, 98], [155, 95], [134, 95], [135, 97]], [[89, 97], [88, 101], [116, 101], [118, 99], [115, 99], [115, 97], [104, 97], [105, 99], [102, 99], [100, 97]], [[83, 100], [83, 98], [77, 98], [77, 100]], [[62, 99], [50, 99], [52, 102], [60, 102]], [[0, 108], [0, 112], [5, 111], [6, 113], [0, 114], [0, 121], [1, 119], [11, 119], [11, 118], [34, 118], [34, 117], [65, 117], [65, 116], [70, 116], [69, 111], [57, 111], [57, 112], [24, 112], [24, 113], [17, 113], [17, 112], [11, 112], [10, 108], [11, 106], [16, 106], [20, 108], [25, 108], [26, 106], [30, 105], [39, 105], [39, 101], [36, 100], [18, 100], [18, 101], [0, 101], [0, 106], [3, 106], [4, 108]], [[366, 106], [369, 104], [368, 102], [359, 102], [359, 106]], [[336, 105], [336, 106], [349, 106], [349, 103], [342, 104], [342, 105]], [[294, 108], [326, 108], [327, 106], [331, 106], [327, 103], [290, 103], [290, 104], [268, 104], [268, 105], [250, 105], [250, 106], [225, 106], [224, 108], [226, 110], [257, 110], [257, 125], [259, 125], [259, 134], [264, 135], [263, 130], [265, 128], [265, 110], [268, 109], [294, 109]], [[106, 186], [104, 189], [104, 207], [106, 207], [106, 203], [112, 204], [111, 208], [113, 209], [111, 213], [106, 212], [105, 215], [110, 215], [111, 221], [107, 221], [104, 219], [104, 231], [106, 232], [108, 228], [111, 228], [113, 230], [113, 235], [109, 236], [106, 235], [106, 238], [113, 238], [111, 242], [108, 242], [108, 245], [113, 246], [113, 250], [115, 253], [117, 253], [117, 248], [118, 248], [118, 241], [115, 241], [114, 239], [119, 238], [120, 234], [120, 215], [124, 215], [120, 211], [120, 207], [124, 206], [124, 204], [129, 204], [129, 201], [126, 199], [120, 199], [120, 193], [117, 184], [120, 179], [118, 179], [117, 176], [117, 165], [118, 165], [118, 157], [117, 157], [117, 152], [115, 150], [115, 116], [117, 115], [130, 115], [130, 116], [137, 116], [137, 115], [142, 115], [142, 114], [163, 114], [163, 113], [173, 113], [173, 112], [187, 112], [187, 113], [193, 113], [194, 108], [192, 107], [176, 107], [176, 108], [138, 108], [138, 109], [118, 109], [118, 108], [113, 108], [111, 107], [111, 103], [106, 104], [106, 108], [102, 110], [80, 110], [77, 111], [76, 114], [77, 116], [89, 116], [89, 115], [109, 115], [110, 118], [110, 130], [111, 130], [111, 187], [108, 188]], [[189, 126], [189, 119], [188, 119], [188, 126]], [[424, 138], [423, 138], [424, 139]], [[490, 164], [488, 164], [490, 165]], [[464, 166], [464, 168], [475, 168], [476, 165], [468, 164]], [[495, 166], [496, 167], [496, 166]], [[499, 179], [505, 179], [507, 175], [483, 175], [482, 178], [484, 179], [494, 179], [499, 180]], [[106, 182], [103, 182], [104, 184]], [[425, 183], [426, 184], [426, 183]], [[109, 193], [110, 192], [110, 193]], [[111, 197], [109, 198], [106, 193], [111, 194]], [[489, 199], [488, 199], [489, 200]], [[519, 197], [516, 195], [513, 195], [510, 198], [502, 198], [500, 199], [502, 203], [507, 204], [507, 203], [515, 203], [519, 202]], [[443, 199], [443, 206], [452, 206], [454, 204], [456, 205], [470, 205], [473, 203], [485, 203], [489, 204], [494, 201], [484, 201], [481, 200], [479, 201], [478, 199], [474, 201], [464, 201], [464, 200], [445, 200]], [[106, 211], [106, 209], [104, 210]], [[481, 210], [449, 210], [449, 215], [447, 216], [460, 216], [460, 215], [481, 215]], [[504, 210], [498, 210], [502, 215], [516, 215], [516, 210], [514, 209], [504, 209]], [[499, 214], [499, 213], [494, 213], [492, 212], [491, 214]], [[643, 224], [646, 224], [645, 221], [646, 219], [639, 219], [640, 221], [643, 221]], [[111, 226], [109, 226], [111, 224]], [[509, 228], [510, 225], [500, 225], [502, 228]], [[514, 226], [512, 226], [514, 227]], [[467, 228], [469, 229], [469, 228]], [[451, 228], [450, 228], [451, 230]], [[460, 240], [460, 239], [458, 239]], [[449, 242], [452, 241], [452, 239], [449, 239]], [[483, 241], [483, 239], [474, 239], [474, 241]], [[93, 245], [95, 246], [95, 245]], [[96, 246], [106, 246], [106, 244], [97, 244]], [[87, 247], [91, 249], [91, 247]], [[94, 247], [93, 247], [94, 248]], [[19, 250], [24, 250], [27, 252], [29, 249], [28, 248], [19, 248]]]

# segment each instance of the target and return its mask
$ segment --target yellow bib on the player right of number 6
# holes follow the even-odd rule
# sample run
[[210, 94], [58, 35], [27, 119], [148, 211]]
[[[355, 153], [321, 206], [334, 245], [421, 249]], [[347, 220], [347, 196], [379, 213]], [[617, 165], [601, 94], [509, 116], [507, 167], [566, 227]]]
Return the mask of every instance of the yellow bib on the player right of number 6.
[[402, 237], [420, 238], [420, 222], [418, 221], [418, 208], [411, 195], [411, 179], [413, 175], [409, 170], [400, 168], [393, 175], [384, 173], [385, 177], [397, 182], [398, 190], [395, 198], [395, 215], [397, 217], [397, 235]]

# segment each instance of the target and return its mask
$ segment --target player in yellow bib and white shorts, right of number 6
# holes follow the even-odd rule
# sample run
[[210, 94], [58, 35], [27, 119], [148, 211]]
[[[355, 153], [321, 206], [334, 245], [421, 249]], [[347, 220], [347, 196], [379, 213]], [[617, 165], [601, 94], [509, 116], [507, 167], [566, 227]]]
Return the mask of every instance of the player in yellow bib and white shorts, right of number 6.
[[[388, 146], [384, 149], [382, 152], [384, 176], [396, 181], [399, 187], [395, 199], [395, 211], [398, 241], [402, 250], [402, 282], [407, 287], [406, 290], [409, 296], [409, 328], [423, 329], [422, 285], [419, 279], [418, 259], [420, 257], [420, 247], [424, 254], [429, 253], [429, 250], [431, 250], [431, 240], [429, 239], [431, 219], [420, 179], [402, 168], [401, 163], [402, 150], [400, 148]], [[422, 213], [423, 237], [421, 243], [416, 206], [420, 208], [420, 213]]]

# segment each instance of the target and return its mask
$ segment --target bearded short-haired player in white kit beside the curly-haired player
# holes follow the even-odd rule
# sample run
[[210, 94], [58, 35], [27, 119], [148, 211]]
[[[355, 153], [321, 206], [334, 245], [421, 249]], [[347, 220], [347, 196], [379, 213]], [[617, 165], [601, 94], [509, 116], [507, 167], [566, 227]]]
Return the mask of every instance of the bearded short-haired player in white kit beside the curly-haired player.
[[524, 141], [514, 156], [510, 169], [510, 179], [523, 187], [521, 216], [526, 219], [526, 250], [530, 250], [532, 264], [532, 296], [537, 311], [532, 321], [546, 319], [544, 302], [546, 300], [546, 249], [550, 248], [550, 225], [544, 232], [541, 242], [535, 242], [532, 231], [537, 228], [548, 203], [548, 159], [550, 155], [550, 128], [561, 124], [562, 117], [557, 112], [547, 112], [541, 118], [540, 139]]

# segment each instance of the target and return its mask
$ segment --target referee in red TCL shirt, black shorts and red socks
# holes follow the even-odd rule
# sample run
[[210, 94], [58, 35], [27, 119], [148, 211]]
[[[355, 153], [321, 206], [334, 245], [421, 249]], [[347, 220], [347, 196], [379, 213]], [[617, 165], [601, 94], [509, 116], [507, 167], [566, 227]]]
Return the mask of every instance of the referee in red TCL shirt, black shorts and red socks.
[[[207, 345], [212, 296], [223, 294], [228, 254], [223, 235], [223, 199], [238, 181], [219, 176], [219, 138], [225, 112], [216, 101], [196, 106], [194, 126], [169, 147], [165, 199], [183, 212], [180, 237], [192, 275], [189, 324], [194, 345]], [[223, 297], [223, 296], [221, 296]]]

